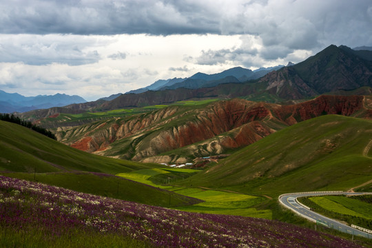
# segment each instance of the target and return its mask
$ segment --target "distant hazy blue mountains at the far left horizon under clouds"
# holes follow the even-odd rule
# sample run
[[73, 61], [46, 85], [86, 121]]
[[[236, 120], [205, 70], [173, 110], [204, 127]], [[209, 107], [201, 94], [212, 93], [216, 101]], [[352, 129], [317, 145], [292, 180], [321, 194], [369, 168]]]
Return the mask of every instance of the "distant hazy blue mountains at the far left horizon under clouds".
[[0, 112], [28, 112], [30, 110], [61, 107], [73, 103], [86, 103], [81, 96], [67, 94], [22, 96], [18, 93], [7, 93], [0, 90]]

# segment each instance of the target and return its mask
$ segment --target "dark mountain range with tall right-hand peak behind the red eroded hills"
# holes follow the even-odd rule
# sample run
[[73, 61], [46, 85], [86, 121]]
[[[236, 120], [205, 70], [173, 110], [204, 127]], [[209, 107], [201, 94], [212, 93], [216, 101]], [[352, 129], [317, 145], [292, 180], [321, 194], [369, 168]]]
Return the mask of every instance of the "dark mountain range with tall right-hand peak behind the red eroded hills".
[[[369, 50], [351, 50], [343, 45], [339, 47], [330, 45], [296, 65], [289, 64], [278, 70], [271, 68], [271, 72], [259, 79], [241, 82], [244, 77], [241, 75], [251, 70], [231, 68], [220, 74], [197, 73], [183, 81], [180, 81], [181, 79], [158, 81], [153, 90], [145, 89], [145, 92], [138, 94], [121, 94], [111, 101], [100, 100], [66, 107], [72, 110], [102, 111], [196, 99], [239, 97], [251, 101], [280, 103], [302, 101], [321, 94], [366, 95], [372, 93], [371, 54], [372, 51]], [[265, 70], [258, 70], [256, 73], [261, 71]], [[240, 77], [237, 74], [236, 76], [240, 80], [236, 76], [227, 76], [232, 72], [239, 72]], [[177, 81], [180, 82], [174, 83]], [[173, 86], [164, 86], [169, 82], [172, 82]]]

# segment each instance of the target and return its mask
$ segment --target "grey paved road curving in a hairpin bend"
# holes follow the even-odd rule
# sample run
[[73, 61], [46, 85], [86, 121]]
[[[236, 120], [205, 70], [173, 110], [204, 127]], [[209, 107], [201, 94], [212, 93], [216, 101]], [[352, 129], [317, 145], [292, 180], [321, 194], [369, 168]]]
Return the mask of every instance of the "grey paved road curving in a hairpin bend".
[[325, 216], [322, 216], [320, 214], [317, 214], [314, 211], [311, 211], [309, 207], [301, 205], [298, 203], [297, 198], [298, 197], [304, 197], [304, 196], [325, 196], [325, 195], [352, 195], [352, 196], [358, 196], [361, 194], [372, 194], [372, 193], [349, 193], [349, 192], [308, 192], [308, 193], [292, 193], [292, 194], [284, 194], [279, 196], [279, 201], [282, 203], [282, 205], [285, 205], [285, 207], [291, 209], [296, 214], [307, 218], [308, 220], [311, 220], [313, 222], [316, 222], [318, 225], [324, 225], [326, 227], [336, 229], [339, 231], [342, 231], [347, 234], [352, 234], [355, 236], [363, 236], [365, 238], [372, 238], [372, 234], [368, 234], [364, 231], [360, 231], [358, 229], [355, 229], [353, 227], [349, 227], [348, 225], [344, 225], [342, 223], [339, 223], [336, 220], [332, 220], [331, 218], [327, 218]]

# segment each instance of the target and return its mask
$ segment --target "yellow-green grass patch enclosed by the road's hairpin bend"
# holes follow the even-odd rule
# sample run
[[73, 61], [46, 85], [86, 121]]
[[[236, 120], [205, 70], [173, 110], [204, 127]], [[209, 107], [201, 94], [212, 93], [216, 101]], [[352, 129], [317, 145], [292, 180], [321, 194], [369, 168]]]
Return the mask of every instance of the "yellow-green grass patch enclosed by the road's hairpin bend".
[[372, 205], [361, 200], [345, 196], [318, 196], [309, 200], [328, 211], [372, 220]]

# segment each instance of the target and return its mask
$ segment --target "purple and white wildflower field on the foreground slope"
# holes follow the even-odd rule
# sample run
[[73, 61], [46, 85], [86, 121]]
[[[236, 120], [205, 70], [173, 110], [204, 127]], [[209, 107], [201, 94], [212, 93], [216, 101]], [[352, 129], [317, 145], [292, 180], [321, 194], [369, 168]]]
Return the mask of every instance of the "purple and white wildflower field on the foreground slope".
[[38, 247], [36, 240], [46, 247], [360, 247], [273, 220], [196, 214], [6, 176], [0, 229], [2, 247]]

